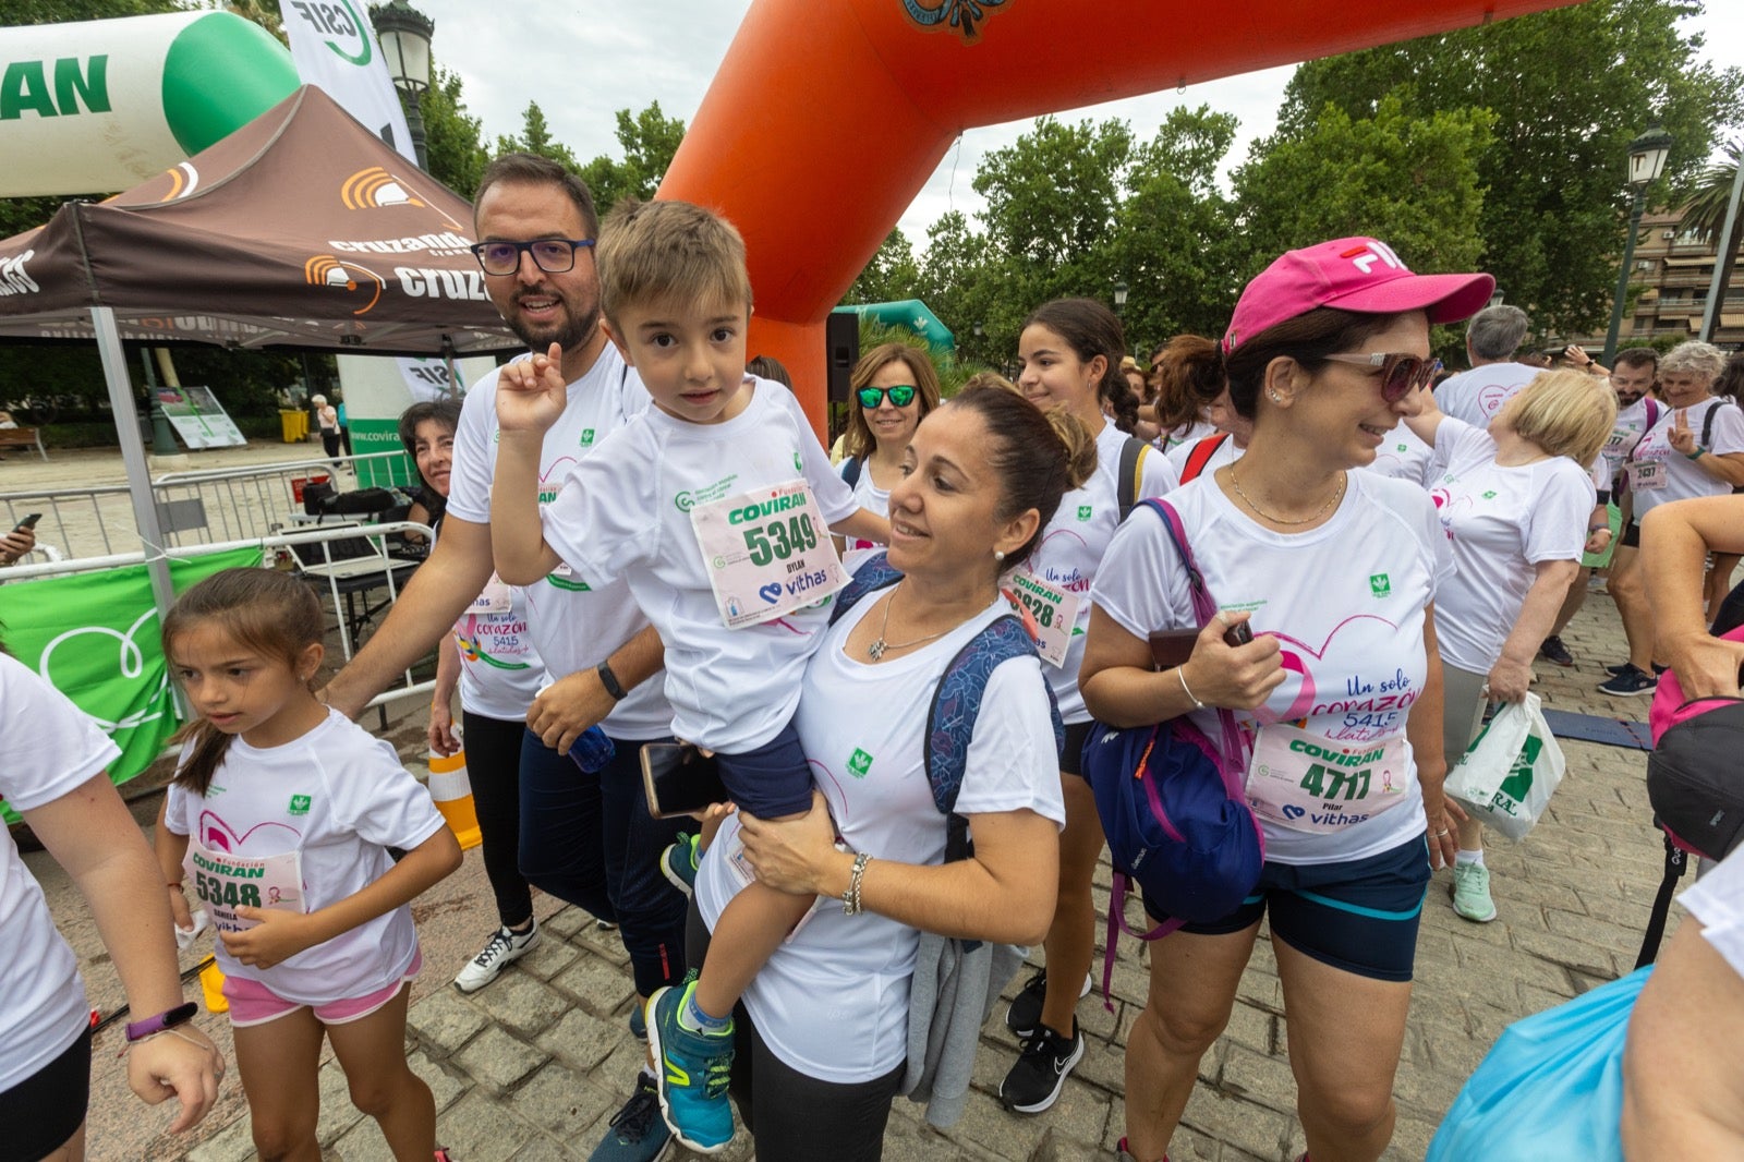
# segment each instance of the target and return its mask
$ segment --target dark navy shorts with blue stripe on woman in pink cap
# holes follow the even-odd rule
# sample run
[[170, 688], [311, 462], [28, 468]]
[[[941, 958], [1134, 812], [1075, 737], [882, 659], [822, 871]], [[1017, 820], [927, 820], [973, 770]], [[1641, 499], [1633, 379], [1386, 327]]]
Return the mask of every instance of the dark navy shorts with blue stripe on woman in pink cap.
[[[1343, 864], [1273, 864], [1259, 886], [1221, 919], [1182, 932], [1228, 935], [1271, 913], [1271, 937], [1305, 956], [1374, 981], [1409, 981], [1428, 892], [1428, 844], [1406, 839], [1380, 855]], [[1153, 919], [1167, 919], [1149, 907]]]

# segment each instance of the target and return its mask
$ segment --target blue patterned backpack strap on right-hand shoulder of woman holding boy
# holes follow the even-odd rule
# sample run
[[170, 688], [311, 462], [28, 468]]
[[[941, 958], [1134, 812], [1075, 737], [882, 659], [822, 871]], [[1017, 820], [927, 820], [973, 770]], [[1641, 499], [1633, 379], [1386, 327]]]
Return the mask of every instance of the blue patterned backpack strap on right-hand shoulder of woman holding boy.
[[[950, 817], [945, 837], [947, 864], [975, 853], [968, 820], [956, 813], [956, 804], [987, 680], [1001, 663], [1024, 656], [1036, 656], [1036, 642], [1022, 621], [1005, 614], [956, 653], [933, 689], [933, 705], [926, 712], [926, 782], [933, 789], [933, 806], [940, 815]], [[1052, 689], [1048, 717], [1053, 721], [1053, 747], [1059, 750], [1066, 745], [1066, 726], [1060, 722], [1060, 708], [1053, 701]]]

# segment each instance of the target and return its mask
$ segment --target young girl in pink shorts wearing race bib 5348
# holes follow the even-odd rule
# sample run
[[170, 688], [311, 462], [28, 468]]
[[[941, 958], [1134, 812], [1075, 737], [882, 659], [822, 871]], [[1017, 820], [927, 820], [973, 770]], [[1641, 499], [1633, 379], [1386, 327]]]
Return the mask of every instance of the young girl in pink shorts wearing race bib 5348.
[[319, 1160], [326, 1038], [394, 1159], [443, 1159], [436, 1103], [406, 1064], [410, 902], [460, 865], [460, 846], [394, 748], [316, 700], [323, 628], [309, 586], [270, 569], [227, 569], [176, 600], [164, 656], [201, 721], [157, 862], [176, 923], [192, 926], [192, 881], [218, 928], [260, 1155]]

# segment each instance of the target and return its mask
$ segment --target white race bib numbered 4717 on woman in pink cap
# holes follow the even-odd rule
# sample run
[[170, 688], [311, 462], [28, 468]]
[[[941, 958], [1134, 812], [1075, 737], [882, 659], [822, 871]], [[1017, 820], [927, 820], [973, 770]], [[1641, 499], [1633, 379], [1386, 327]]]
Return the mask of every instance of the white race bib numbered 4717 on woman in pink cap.
[[1404, 736], [1343, 745], [1294, 726], [1259, 728], [1247, 766], [1247, 803], [1261, 818], [1327, 834], [1374, 818], [1409, 797]]

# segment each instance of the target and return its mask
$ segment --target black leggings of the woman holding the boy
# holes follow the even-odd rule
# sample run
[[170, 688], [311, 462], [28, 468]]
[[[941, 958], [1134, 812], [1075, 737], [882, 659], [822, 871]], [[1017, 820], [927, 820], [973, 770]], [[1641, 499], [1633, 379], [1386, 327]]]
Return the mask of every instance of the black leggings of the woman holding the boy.
[[[708, 928], [694, 900], [685, 916], [685, 954], [692, 965], [708, 954]], [[820, 1082], [769, 1050], [743, 1003], [732, 1010], [731, 1092], [760, 1162], [877, 1162], [903, 1068], [870, 1082]]]

